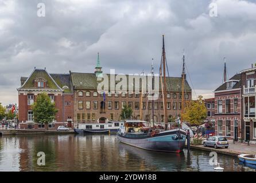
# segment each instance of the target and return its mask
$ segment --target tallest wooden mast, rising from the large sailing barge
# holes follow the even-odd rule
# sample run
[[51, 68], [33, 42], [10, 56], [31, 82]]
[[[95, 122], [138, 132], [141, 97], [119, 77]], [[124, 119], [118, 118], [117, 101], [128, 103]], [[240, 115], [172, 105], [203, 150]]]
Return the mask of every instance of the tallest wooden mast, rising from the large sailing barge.
[[165, 73], [165, 45], [164, 45], [164, 35], [162, 35], [162, 64], [164, 69], [164, 120], [165, 120], [165, 130], [168, 128], [168, 121], [167, 121], [167, 109], [166, 109], [166, 73]]

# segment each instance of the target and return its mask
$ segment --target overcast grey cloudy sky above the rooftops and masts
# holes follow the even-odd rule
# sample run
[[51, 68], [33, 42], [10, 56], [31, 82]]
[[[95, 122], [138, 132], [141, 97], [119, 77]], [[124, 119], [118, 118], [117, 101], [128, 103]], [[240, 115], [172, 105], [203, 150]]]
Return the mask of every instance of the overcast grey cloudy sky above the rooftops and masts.
[[162, 34], [170, 75], [180, 76], [185, 49], [194, 97], [211, 97], [224, 57], [229, 77], [256, 63], [255, 10], [253, 0], [0, 0], [0, 102], [18, 102], [20, 77], [35, 66], [92, 73], [98, 52], [104, 73], [149, 71], [152, 58], [158, 70]]

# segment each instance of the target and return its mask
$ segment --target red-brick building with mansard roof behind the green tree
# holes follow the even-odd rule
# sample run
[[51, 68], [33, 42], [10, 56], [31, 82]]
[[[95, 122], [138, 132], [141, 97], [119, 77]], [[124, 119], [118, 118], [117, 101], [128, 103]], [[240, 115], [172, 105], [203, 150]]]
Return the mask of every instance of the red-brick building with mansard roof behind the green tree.
[[49, 128], [65, 125], [73, 127], [73, 93], [70, 74], [49, 74], [46, 69], [34, 69], [29, 77], [21, 77], [18, 89], [18, 118], [21, 128], [44, 129], [45, 125], [33, 121], [31, 106], [38, 94], [46, 92], [55, 102], [58, 112]]

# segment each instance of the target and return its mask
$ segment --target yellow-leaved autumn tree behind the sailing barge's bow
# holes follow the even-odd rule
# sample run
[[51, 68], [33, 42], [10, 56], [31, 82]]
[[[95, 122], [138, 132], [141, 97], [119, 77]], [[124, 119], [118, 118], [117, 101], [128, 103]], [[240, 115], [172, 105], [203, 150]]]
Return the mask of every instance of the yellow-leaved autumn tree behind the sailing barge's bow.
[[195, 125], [198, 132], [199, 125], [203, 124], [206, 118], [206, 113], [207, 109], [205, 108], [203, 97], [199, 96], [198, 100], [187, 102], [183, 113], [183, 120], [188, 121], [191, 125]]

